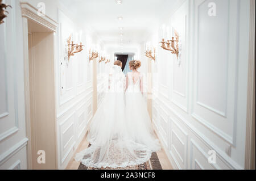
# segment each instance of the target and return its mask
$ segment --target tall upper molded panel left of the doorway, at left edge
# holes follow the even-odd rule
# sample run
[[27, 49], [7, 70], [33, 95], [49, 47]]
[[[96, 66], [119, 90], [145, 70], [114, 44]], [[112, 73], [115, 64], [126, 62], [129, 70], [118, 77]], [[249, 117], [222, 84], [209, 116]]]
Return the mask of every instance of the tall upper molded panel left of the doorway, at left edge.
[[[2, 36], [3, 40], [3, 63], [2, 68], [5, 72], [3, 77], [1, 76], [1, 81], [5, 82], [5, 111], [0, 113], [0, 127], [2, 127], [2, 133], [0, 133], [0, 141], [5, 140], [6, 138], [10, 137], [11, 135], [15, 134], [19, 131], [19, 116], [18, 116], [18, 82], [17, 82], [17, 75], [16, 72], [18, 68], [16, 67], [16, 56], [11, 50], [15, 50], [13, 47], [16, 45], [16, 5], [14, 0], [6, 1], [9, 5], [13, 7], [11, 9], [10, 15], [6, 23], [2, 26]], [[13, 49], [14, 48], [14, 49]], [[11, 49], [11, 50], [10, 50]], [[1, 52], [2, 53], [2, 52]], [[2, 69], [1, 69], [2, 71]], [[2, 74], [1, 74], [2, 75]], [[2, 79], [3, 78], [3, 79]], [[2, 85], [2, 84], [1, 84]], [[11, 125], [10, 125], [11, 123]], [[8, 126], [6, 126], [8, 125]], [[3, 127], [5, 126], [5, 127]], [[3, 130], [5, 129], [5, 130]]]

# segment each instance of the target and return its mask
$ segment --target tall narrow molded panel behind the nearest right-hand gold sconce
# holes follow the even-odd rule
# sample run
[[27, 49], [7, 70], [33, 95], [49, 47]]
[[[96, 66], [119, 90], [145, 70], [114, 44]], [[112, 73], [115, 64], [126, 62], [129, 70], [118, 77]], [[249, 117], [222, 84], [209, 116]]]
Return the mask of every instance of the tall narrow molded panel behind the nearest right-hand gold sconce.
[[[172, 15], [171, 24], [180, 35], [180, 56], [177, 64], [176, 56], [172, 56], [172, 89], [171, 102], [188, 113], [189, 99], [189, 1], [184, 1], [181, 7]], [[173, 34], [174, 34], [174, 30]], [[177, 81], [178, 80], [178, 81]]]

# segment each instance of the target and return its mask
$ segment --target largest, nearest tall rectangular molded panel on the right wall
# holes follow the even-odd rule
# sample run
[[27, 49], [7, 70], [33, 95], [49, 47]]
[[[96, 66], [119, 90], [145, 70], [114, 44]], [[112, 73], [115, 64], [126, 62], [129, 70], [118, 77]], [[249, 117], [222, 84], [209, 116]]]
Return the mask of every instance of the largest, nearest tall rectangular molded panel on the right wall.
[[[199, 99], [199, 89], [200, 89], [199, 82], [205, 81], [205, 78], [202, 79], [203, 81], [202, 80], [199, 81], [199, 70], [201, 72], [203, 71], [203, 68], [202, 67], [200, 68], [199, 66], [203, 64], [202, 61], [200, 62], [200, 52], [203, 52], [201, 54], [205, 55], [204, 52], [207, 51], [201, 48], [199, 52], [199, 45], [204, 43], [204, 40], [200, 41], [200, 39], [203, 39], [203, 37], [201, 36], [207, 35], [207, 34], [204, 35], [200, 33], [200, 23], [202, 23], [200, 21], [205, 22], [206, 20], [209, 19], [210, 21], [212, 21], [211, 23], [214, 23], [214, 19], [209, 18], [210, 16], [207, 16], [207, 15], [204, 16], [203, 14], [203, 13], [207, 14], [207, 12], [205, 12], [206, 10], [208, 10], [207, 2], [208, 1], [205, 1], [205, 0], [201, 0], [201, 1], [198, 0], [196, 1], [193, 7], [195, 11], [195, 25], [193, 29], [195, 30], [195, 35], [196, 35], [195, 36], [195, 42], [196, 42], [195, 52], [196, 53], [195, 53], [195, 67], [194, 67], [195, 74], [193, 74], [194, 82], [193, 82], [193, 94], [192, 94], [193, 95], [192, 116], [195, 120], [199, 121], [199, 123], [204, 125], [210, 131], [216, 133], [219, 137], [223, 138], [225, 141], [228, 141], [233, 146], [236, 146], [236, 130], [237, 130], [236, 128], [237, 113], [236, 112], [237, 112], [238, 57], [239, 57], [238, 52], [240, 51], [239, 43], [238, 43], [240, 40], [240, 37], [239, 37], [239, 26], [240, 26], [239, 3], [240, 1], [227, 0], [227, 1], [218, 2], [218, 3], [221, 3], [221, 5], [223, 4], [222, 5], [223, 9], [219, 10], [218, 13], [225, 14], [225, 16], [223, 15], [224, 18], [221, 18], [221, 23], [225, 24], [225, 26], [227, 27], [227, 28], [225, 28], [225, 26], [223, 27], [225, 29], [223, 33], [228, 36], [225, 36], [226, 38], [221, 40], [218, 40], [219, 39], [218, 37], [218, 39], [215, 40], [216, 42], [214, 44], [216, 45], [217, 41], [218, 42], [222, 41], [222, 44], [225, 47], [225, 49], [222, 50], [222, 53], [224, 53], [225, 56], [222, 57], [223, 61], [221, 61], [221, 64], [223, 64], [223, 66], [225, 65], [223, 70], [219, 73], [220, 75], [215, 74], [213, 76], [212, 75], [213, 73], [212, 74], [208, 73], [209, 77], [211, 76], [212, 79], [215, 80], [216, 86], [218, 86], [218, 83], [216, 82], [217, 79], [221, 79], [222, 80], [221, 85], [223, 85], [220, 87], [220, 89], [223, 91], [219, 91], [220, 94], [218, 94], [217, 96], [218, 99], [215, 98], [216, 101], [217, 100], [221, 100], [221, 101], [214, 104], [212, 103], [213, 103], [213, 100], [215, 101], [215, 99], [210, 99], [210, 98], [211, 96], [213, 97], [216, 96], [217, 95], [216, 92], [211, 96], [204, 95], [205, 100], [203, 100], [202, 98], [201, 98], [202, 100]], [[224, 12], [224, 10], [226, 11]], [[233, 18], [233, 17], [236, 17], [236, 18]], [[201, 20], [200, 18], [203, 20]], [[219, 16], [216, 16], [216, 20], [219, 20], [219, 19], [220, 19]], [[204, 31], [204, 32], [207, 33], [208, 31]], [[212, 39], [212, 37], [210, 38]], [[199, 44], [200, 42], [203, 42], [203, 43]], [[221, 43], [219, 42], [219, 44]], [[211, 66], [208, 69], [212, 69], [212, 70], [216, 69], [220, 71], [219, 69], [220, 66], [219, 65], [217, 66], [216, 65], [217, 63], [212, 61], [209, 64]], [[201, 76], [203, 76], [203, 73], [201, 74], [202, 74]], [[207, 73], [205, 74], [208, 75]], [[223, 75], [222, 78], [220, 78], [221, 75]], [[211, 81], [211, 82], [214, 83], [214, 81]], [[226, 83], [224, 84], [224, 82]], [[201, 83], [201, 89], [203, 90], [202, 83]], [[204, 88], [204, 89], [208, 89], [208, 88]], [[208, 94], [211, 94], [211, 92], [209, 92]], [[201, 93], [201, 95], [203, 95], [203, 93]], [[207, 102], [207, 100], [209, 101]], [[218, 106], [216, 106], [215, 104]]]

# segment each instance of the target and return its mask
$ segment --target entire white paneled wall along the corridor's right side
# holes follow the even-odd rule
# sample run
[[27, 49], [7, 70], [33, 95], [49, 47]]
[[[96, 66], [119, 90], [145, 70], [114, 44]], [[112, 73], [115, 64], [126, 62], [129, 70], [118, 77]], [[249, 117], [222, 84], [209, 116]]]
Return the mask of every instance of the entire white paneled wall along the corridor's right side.
[[[177, 60], [158, 45], [152, 120], [175, 169], [244, 168], [249, 7], [184, 1], [166, 22], [180, 35], [181, 54]], [[161, 40], [162, 30], [156, 35]]]

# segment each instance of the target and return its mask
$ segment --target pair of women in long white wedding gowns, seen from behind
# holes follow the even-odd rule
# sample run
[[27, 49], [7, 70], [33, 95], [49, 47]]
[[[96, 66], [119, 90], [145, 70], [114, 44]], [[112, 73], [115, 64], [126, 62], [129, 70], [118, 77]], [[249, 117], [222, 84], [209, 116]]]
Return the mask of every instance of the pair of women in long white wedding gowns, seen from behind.
[[75, 160], [88, 167], [125, 168], [139, 165], [160, 150], [154, 136], [146, 102], [143, 77], [137, 70], [141, 61], [130, 61], [132, 72], [122, 73], [122, 62], [115, 61], [109, 74], [109, 87], [90, 125], [89, 148]]

